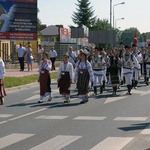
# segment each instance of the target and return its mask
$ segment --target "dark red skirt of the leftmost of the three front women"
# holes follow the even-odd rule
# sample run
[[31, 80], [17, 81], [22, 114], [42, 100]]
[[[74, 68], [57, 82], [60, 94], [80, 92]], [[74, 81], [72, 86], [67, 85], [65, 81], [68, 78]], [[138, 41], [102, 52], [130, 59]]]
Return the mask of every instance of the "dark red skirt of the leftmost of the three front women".
[[40, 73], [40, 95], [44, 96], [46, 92], [51, 92], [51, 78], [48, 70], [43, 69]]

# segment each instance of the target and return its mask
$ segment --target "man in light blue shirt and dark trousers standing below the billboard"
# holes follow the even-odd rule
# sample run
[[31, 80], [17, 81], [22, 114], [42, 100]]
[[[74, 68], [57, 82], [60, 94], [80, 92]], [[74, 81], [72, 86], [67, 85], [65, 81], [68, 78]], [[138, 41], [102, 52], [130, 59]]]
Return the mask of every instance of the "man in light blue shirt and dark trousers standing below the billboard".
[[17, 57], [20, 63], [20, 71], [24, 71], [24, 57], [26, 55], [26, 48], [20, 43], [19, 48], [17, 49]]

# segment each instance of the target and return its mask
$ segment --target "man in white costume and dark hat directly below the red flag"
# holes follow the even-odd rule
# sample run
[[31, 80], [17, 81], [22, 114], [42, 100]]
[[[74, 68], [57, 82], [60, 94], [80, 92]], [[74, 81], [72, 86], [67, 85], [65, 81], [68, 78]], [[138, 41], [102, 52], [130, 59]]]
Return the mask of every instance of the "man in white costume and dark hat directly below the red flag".
[[138, 67], [134, 66], [134, 69], [133, 69], [133, 80], [132, 80], [132, 87], [137, 89], [138, 80], [139, 80], [139, 74], [140, 74], [140, 70], [141, 70], [140, 62], [142, 61], [143, 58], [142, 58], [142, 55], [140, 55], [138, 53], [136, 44], [132, 44], [132, 54], [136, 57], [136, 59], [138, 60], [138, 63], [139, 63]]

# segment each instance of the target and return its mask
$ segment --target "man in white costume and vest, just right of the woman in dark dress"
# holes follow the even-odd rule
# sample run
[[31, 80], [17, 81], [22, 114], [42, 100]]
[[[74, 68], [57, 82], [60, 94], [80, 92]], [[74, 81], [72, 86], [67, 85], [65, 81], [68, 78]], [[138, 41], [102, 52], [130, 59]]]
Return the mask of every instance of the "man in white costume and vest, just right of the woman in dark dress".
[[131, 94], [132, 89], [132, 78], [133, 78], [133, 68], [135, 64], [136, 67], [139, 67], [138, 60], [136, 57], [131, 54], [131, 48], [129, 46], [125, 46], [125, 53], [123, 54], [123, 57], [121, 59], [122, 66], [123, 66], [123, 75], [125, 76], [128, 92], [127, 95]]

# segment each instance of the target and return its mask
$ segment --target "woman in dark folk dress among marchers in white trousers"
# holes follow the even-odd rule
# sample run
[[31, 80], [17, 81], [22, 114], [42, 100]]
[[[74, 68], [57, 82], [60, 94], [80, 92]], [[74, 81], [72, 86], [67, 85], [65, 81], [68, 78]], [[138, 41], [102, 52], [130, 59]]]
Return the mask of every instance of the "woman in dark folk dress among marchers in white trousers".
[[120, 60], [119, 56], [117, 55], [116, 50], [112, 50], [112, 54], [110, 56], [108, 64], [109, 64], [109, 71], [110, 71], [110, 82], [113, 87], [112, 95], [116, 95], [117, 88], [120, 84], [118, 68], [121, 65], [121, 60]]

